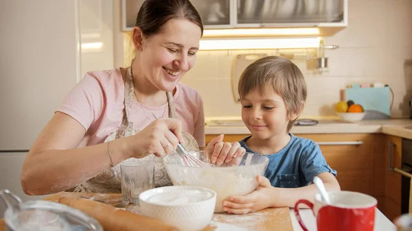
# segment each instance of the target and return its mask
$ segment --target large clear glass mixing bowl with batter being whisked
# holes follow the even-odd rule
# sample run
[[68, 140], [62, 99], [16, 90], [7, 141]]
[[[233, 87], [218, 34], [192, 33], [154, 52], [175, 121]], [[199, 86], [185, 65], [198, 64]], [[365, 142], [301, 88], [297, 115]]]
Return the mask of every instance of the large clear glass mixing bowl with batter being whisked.
[[[189, 154], [210, 162], [203, 151], [189, 151]], [[267, 156], [246, 153], [220, 167], [188, 167], [182, 165], [179, 154], [163, 158], [165, 169], [174, 185], [203, 186], [216, 191], [214, 212], [224, 212], [222, 202], [229, 196], [247, 195], [258, 187], [256, 175], [264, 175], [269, 162]]]

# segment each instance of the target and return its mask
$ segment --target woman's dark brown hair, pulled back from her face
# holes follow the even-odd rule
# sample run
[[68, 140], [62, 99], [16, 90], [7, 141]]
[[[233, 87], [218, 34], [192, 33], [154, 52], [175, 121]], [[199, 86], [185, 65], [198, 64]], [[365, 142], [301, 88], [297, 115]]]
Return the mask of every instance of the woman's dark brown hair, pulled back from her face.
[[195, 23], [201, 27], [203, 35], [201, 16], [189, 0], [146, 0], [137, 13], [135, 26], [150, 37], [170, 19], [185, 19]]

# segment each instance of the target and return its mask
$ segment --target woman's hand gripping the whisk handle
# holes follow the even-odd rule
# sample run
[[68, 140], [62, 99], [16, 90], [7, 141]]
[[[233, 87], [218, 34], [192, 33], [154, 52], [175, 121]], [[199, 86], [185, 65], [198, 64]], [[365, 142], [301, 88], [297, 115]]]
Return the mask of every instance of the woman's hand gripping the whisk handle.
[[134, 136], [126, 137], [128, 155], [144, 158], [149, 154], [163, 157], [171, 154], [181, 141], [181, 121], [179, 119], [156, 119]]

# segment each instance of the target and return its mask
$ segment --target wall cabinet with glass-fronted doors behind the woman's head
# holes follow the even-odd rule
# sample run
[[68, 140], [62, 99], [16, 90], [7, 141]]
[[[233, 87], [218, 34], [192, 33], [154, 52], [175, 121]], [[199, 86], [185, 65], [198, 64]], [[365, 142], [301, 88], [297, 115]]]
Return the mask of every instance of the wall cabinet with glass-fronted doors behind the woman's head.
[[[122, 0], [124, 30], [144, 0]], [[346, 27], [348, 0], [191, 0], [205, 29]]]

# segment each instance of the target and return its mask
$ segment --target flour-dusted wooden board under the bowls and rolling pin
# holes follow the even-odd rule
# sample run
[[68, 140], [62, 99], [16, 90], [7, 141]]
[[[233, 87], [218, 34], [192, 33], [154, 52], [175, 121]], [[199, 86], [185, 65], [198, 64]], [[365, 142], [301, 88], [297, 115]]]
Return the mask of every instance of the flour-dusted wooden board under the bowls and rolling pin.
[[[45, 200], [58, 202], [60, 197], [90, 198], [106, 202], [114, 206], [122, 203], [122, 195], [118, 193], [56, 193], [46, 197]], [[137, 206], [130, 204], [127, 210], [139, 213]], [[228, 215], [225, 213], [214, 214], [211, 223], [203, 231], [214, 230], [246, 230], [254, 231], [293, 231], [289, 208], [266, 208], [258, 212], [244, 215]], [[0, 231], [5, 230], [3, 219], [0, 220]]]

